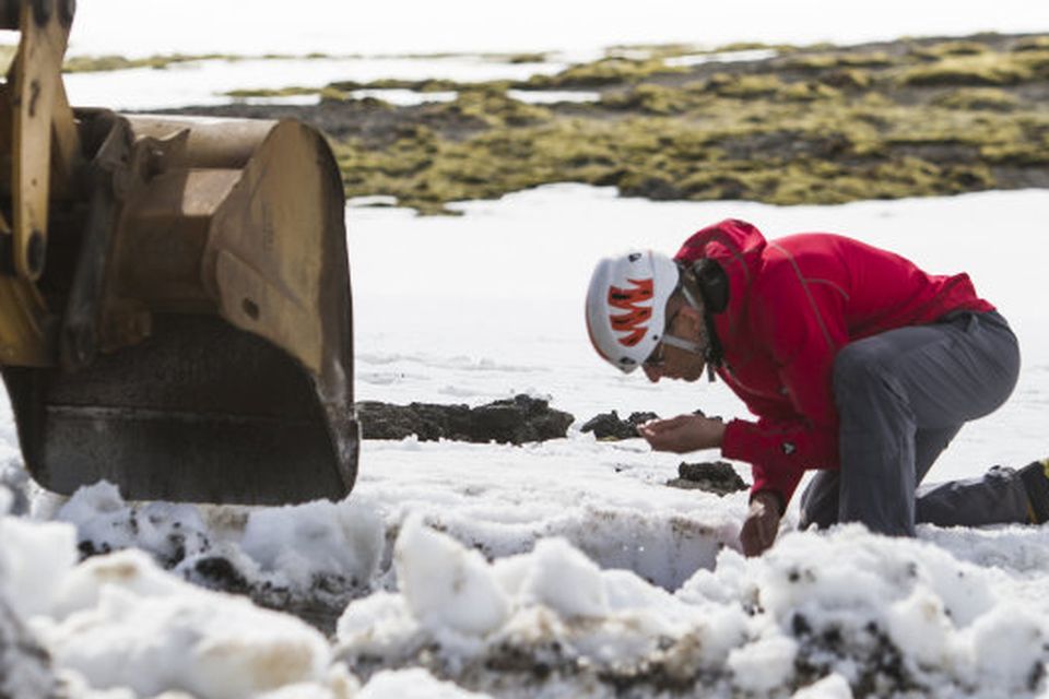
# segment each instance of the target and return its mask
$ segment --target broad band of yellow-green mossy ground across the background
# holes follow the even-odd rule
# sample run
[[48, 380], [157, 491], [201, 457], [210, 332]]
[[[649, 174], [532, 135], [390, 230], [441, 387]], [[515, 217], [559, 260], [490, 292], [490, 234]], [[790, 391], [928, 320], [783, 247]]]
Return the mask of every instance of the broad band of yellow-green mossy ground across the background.
[[[340, 83], [313, 108], [225, 111], [314, 121], [349, 196], [393, 196], [422, 213], [562, 181], [774, 204], [1049, 187], [1049, 36], [777, 51], [681, 67], [664, 61], [694, 50], [649, 47], [518, 83]], [[353, 99], [360, 87], [458, 98], [394, 107]], [[600, 99], [538, 106], [509, 88]]]

